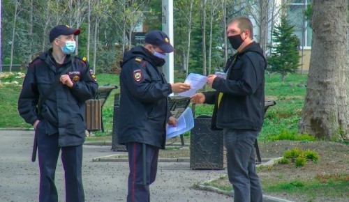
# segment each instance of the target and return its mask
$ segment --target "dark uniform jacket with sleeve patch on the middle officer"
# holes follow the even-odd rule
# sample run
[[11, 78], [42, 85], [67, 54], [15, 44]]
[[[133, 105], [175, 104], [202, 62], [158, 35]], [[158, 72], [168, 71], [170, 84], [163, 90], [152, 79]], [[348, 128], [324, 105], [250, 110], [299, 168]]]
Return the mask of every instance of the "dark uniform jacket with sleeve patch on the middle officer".
[[164, 64], [144, 47], [124, 54], [120, 73], [119, 143], [147, 143], [165, 148], [171, 86], [158, 69]]

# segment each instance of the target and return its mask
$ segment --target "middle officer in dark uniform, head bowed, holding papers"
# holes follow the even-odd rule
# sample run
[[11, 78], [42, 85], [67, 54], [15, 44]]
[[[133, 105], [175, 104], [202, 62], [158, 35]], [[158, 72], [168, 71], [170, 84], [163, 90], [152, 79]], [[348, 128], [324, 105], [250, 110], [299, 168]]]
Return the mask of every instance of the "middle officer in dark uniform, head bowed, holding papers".
[[132, 202], [149, 201], [158, 150], [165, 148], [166, 123], [176, 125], [168, 110], [168, 95], [190, 89], [184, 83], [168, 84], [163, 76], [166, 53], [174, 51], [168, 36], [162, 31], [150, 31], [144, 41], [143, 47], [124, 54], [120, 73], [118, 141], [128, 150], [127, 201]]

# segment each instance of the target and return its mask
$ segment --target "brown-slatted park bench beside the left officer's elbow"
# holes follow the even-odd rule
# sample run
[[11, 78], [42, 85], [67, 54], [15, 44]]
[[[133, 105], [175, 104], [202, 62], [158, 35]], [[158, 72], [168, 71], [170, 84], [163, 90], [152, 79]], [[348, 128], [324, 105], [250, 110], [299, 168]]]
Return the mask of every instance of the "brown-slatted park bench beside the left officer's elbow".
[[102, 109], [105, 104], [105, 100], [109, 97], [112, 90], [118, 87], [110, 86], [109, 84], [104, 86], [98, 86], [98, 91], [94, 99], [86, 101], [86, 130], [87, 131], [98, 131], [104, 132]]

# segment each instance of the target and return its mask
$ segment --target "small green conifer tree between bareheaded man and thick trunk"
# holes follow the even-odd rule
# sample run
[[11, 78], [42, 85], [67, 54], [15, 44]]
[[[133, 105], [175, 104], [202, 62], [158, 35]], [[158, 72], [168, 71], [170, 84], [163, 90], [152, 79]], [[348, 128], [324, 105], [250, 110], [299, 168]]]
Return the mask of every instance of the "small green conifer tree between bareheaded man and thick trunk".
[[293, 27], [285, 16], [281, 17], [281, 24], [275, 26], [272, 36], [273, 52], [267, 58], [269, 72], [277, 72], [281, 75], [281, 81], [285, 80], [288, 73], [295, 73], [299, 66], [299, 39], [293, 34]]

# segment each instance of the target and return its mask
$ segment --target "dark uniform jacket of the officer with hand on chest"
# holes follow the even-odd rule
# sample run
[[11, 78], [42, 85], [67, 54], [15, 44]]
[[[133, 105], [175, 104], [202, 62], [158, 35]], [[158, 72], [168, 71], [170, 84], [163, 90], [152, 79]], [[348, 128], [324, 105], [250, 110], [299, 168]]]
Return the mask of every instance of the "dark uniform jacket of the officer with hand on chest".
[[[37, 119], [43, 121], [46, 134], [59, 133], [59, 146], [77, 146], [83, 143], [85, 138], [85, 101], [94, 98], [98, 84], [86, 61], [77, 56], [67, 55], [64, 63], [58, 67], [51, 56], [52, 49], [29, 64], [18, 99], [18, 111], [24, 121], [31, 125]], [[59, 82], [43, 103], [42, 115], [38, 116], [39, 99], [54, 83], [57, 71], [67, 65], [70, 67], [62, 75], [70, 76], [73, 87], [69, 88]]]

